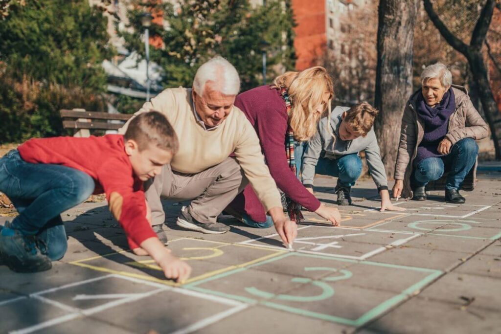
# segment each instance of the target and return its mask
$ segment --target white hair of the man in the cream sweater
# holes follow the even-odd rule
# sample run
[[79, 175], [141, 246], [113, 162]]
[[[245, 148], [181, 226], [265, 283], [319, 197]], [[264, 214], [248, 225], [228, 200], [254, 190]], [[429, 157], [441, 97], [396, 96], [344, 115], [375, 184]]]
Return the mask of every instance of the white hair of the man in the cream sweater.
[[212, 88], [224, 95], [237, 95], [240, 91], [240, 78], [233, 65], [221, 56], [216, 56], [202, 64], [195, 74], [193, 90], [202, 96], [207, 81]]

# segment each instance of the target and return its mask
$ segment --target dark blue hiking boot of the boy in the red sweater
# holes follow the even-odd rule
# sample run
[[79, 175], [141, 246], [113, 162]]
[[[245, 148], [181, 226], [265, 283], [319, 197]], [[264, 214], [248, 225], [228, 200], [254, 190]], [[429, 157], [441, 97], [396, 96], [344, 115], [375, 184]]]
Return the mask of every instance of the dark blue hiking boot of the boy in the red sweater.
[[47, 246], [35, 235], [24, 235], [9, 223], [0, 230], [0, 258], [9, 269], [37, 272], [52, 268]]

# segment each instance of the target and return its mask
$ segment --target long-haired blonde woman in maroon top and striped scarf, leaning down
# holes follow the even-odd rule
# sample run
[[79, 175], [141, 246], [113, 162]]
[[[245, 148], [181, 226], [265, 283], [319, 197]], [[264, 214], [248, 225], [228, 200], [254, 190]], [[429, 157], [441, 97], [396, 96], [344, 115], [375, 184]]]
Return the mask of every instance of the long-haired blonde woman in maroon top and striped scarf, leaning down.
[[[323, 67], [317, 66], [302, 72], [287, 72], [272, 85], [241, 93], [235, 100], [235, 106], [245, 113], [258, 133], [266, 164], [285, 194], [291, 220], [302, 219], [301, 206], [333, 225], [339, 225], [341, 220], [338, 209], [321, 204], [298, 179], [303, 144], [315, 135], [332, 96], [332, 80]], [[250, 186], [225, 211], [249, 226], [273, 225]]]

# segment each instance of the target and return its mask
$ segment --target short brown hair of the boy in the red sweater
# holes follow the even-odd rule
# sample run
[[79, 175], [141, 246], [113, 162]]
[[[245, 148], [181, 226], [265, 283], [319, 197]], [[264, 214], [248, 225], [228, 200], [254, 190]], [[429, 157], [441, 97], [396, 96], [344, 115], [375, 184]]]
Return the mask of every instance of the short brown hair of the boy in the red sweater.
[[124, 135], [125, 141], [134, 140], [142, 151], [149, 143], [154, 143], [162, 150], [176, 154], [179, 149], [179, 141], [176, 132], [167, 118], [158, 111], [150, 111], [139, 114], [129, 123]]

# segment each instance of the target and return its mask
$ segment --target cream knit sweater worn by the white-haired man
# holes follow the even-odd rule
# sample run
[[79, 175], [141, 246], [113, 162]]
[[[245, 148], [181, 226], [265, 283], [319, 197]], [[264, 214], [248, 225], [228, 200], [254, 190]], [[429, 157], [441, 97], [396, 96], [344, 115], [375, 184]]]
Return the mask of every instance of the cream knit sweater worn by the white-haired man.
[[[146, 102], [134, 116], [156, 110], [172, 124], [179, 139], [179, 151], [170, 163], [172, 170], [199, 173], [221, 163], [234, 152], [266, 211], [281, 207], [280, 193], [265, 164], [258, 135], [243, 112], [233, 106], [224, 122], [206, 131], [197, 123], [192, 106], [191, 89], [168, 88]], [[133, 118], [119, 130], [120, 134], [125, 133]]]

